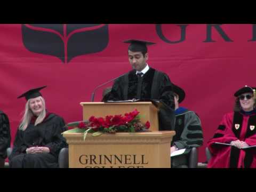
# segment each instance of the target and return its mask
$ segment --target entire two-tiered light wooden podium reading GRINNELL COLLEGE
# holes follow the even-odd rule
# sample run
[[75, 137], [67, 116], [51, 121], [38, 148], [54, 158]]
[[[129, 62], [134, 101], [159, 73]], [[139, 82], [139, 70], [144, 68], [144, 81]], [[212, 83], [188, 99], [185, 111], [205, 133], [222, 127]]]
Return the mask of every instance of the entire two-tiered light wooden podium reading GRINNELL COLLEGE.
[[158, 131], [158, 109], [151, 102], [82, 102], [83, 119], [124, 115], [140, 111], [142, 123], [150, 122], [151, 132], [102, 134], [66, 133], [70, 168], [170, 168], [170, 146], [174, 131]]

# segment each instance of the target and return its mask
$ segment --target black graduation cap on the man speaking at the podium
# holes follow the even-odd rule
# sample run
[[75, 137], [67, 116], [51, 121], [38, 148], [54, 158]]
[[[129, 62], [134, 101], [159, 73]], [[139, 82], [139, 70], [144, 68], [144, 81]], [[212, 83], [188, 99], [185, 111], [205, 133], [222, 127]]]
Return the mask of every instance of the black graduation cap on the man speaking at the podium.
[[138, 40], [138, 39], [129, 39], [124, 41], [124, 43], [130, 43], [128, 50], [132, 52], [148, 52], [147, 45], [154, 45], [155, 43]]

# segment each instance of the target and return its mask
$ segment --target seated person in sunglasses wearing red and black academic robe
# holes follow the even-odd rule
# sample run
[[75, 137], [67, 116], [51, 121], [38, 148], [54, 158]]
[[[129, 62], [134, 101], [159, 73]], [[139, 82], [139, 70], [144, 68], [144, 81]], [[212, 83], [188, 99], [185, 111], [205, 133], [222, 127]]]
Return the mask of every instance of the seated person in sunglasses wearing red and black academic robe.
[[[207, 143], [212, 158], [207, 167], [256, 167], [256, 153], [242, 148], [256, 145], [255, 88], [245, 86], [235, 92], [234, 112], [223, 116], [213, 138]], [[216, 145], [229, 143], [231, 146]]]

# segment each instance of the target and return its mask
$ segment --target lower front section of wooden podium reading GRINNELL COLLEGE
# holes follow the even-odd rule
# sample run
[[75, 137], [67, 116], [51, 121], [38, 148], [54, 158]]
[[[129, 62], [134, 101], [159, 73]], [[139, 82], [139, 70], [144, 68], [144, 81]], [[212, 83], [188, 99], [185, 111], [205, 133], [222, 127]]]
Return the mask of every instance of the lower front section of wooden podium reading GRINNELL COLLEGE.
[[174, 131], [63, 136], [69, 145], [70, 168], [170, 168]]

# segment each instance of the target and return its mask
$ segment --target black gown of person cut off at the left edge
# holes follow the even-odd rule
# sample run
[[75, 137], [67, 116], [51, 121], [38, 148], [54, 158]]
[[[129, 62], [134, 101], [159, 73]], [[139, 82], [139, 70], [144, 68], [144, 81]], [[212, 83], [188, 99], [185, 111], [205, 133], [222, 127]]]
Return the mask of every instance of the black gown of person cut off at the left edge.
[[11, 133], [9, 119], [0, 111], [0, 158], [6, 158], [6, 149], [10, 147]]

